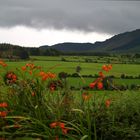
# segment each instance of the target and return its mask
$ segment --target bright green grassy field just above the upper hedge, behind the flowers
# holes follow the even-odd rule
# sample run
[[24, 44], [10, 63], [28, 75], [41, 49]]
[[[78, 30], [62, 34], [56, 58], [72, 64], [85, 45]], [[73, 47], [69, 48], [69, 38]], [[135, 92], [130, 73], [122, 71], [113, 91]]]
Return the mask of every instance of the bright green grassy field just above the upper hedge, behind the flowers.
[[[51, 71], [55, 73], [67, 72], [75, 73], [76, 67], [80, 66], [82, 68], [82, 75], [97, 74], [97, 71], [101, 70], [102, 63], [81, 63], [81, 62], [63, 62], [63, 61], [21, 61], [21, 62], [7, 62], [10, 69], [20, 68], [26, 63], [34, 63], [35, 65], [42, 66], [46, 71]], [[121, 74], [138, 76], [140, 75], [140, 65], [137, 64], [113, 64], [113, 69], [107, 75], [115, 75], [120, 77]]]

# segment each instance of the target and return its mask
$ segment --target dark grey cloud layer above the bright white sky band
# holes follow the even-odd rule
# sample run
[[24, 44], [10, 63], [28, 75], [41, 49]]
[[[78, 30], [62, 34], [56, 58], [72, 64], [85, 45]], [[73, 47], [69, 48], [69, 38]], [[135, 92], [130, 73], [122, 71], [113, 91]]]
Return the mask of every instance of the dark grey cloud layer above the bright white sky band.
[[0, 27], [115, 34], [140, 27], [139, 7], [139, 1], [130, 0], [0, 0]]

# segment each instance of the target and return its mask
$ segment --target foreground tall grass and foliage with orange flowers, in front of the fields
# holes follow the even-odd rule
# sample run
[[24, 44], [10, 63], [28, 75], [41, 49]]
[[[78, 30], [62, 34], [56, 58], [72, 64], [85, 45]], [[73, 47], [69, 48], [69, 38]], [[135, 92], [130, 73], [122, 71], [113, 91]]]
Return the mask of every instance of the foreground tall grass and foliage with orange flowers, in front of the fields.
[[4, 61], [0, 66], [2, 139], [140, 139], [140, 94], [104, 91], [105, 73], [112, 65], [104, 65], [89, 84], [93, 92], [78, 93], [70, 90], [66, 78], [33, 63], [15, 71]]

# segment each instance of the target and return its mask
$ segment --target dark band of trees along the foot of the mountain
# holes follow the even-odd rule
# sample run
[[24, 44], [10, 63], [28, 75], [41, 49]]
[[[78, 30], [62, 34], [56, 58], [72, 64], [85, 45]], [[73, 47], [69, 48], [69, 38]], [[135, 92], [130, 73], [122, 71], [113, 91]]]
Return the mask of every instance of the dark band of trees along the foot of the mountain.
[[[22, 47], [8, 43], [0, 44], [0, 58], [8, 59], [29, 59], [29, 56], [59, 56], [59, 55], [77, 55], [77, 56], [113, 56], [108, 52], [62, 52], [54, 48], [36, 48], [36, 47]], [[135, 54], [120, 54], [122, 58], [140, 58], [140, 53]]]

